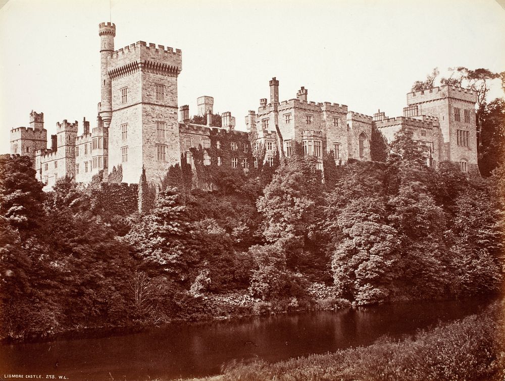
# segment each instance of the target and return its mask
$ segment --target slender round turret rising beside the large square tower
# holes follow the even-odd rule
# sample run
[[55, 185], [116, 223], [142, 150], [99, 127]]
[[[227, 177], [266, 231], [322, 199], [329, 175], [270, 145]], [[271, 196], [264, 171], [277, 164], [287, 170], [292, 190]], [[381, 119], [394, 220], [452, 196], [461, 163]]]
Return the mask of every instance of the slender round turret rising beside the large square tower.
[[100, 87], [102, 88], [99, 115], [104, 121], [105, 128], [108, 128], [112, 118], [112, 81], [108, 71], [108, 58], [114, 52], [116, 25], [101, 23], [98, 27], [98, 35], [100, 36]]

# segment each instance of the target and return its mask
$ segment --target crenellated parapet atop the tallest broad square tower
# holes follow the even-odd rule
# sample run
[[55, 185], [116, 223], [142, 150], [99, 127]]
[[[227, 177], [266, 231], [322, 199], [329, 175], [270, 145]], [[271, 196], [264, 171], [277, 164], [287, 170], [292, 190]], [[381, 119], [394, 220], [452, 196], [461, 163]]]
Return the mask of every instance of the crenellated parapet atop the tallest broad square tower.
[[132, 64], [136, 65], [135, 69], [145, 68], [160, 74], [178, 75], [182, 71], [182, 51], [138, 41], [114, 51], [108, 57], [109, 75], [117, 77], [124, 74], [127, 66]]

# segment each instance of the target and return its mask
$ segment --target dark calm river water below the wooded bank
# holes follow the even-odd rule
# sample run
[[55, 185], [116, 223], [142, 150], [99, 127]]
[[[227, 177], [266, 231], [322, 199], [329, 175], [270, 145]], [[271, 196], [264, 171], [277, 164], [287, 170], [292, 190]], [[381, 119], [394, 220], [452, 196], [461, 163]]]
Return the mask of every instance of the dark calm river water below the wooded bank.
[[135, 334], [0, 346], [8, 374], [70, 380], [145, 380], [219, 373], [233, 359], [279, 361], [369, 345], [481, 311], [489, 300], [419, 302], [338, 311], [171, 324]]

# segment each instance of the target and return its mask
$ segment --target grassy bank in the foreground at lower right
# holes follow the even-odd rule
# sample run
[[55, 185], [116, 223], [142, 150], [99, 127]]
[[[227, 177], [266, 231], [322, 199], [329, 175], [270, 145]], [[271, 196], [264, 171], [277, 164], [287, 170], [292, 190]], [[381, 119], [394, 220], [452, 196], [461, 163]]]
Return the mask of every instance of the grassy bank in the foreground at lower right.
[[[228, 380], [505, 380], [505, 302], [479, 314], [402, 340], [312, 355], [273, 364], [232, 363]], [[196, 380], [196, 379], [194, 379]]]

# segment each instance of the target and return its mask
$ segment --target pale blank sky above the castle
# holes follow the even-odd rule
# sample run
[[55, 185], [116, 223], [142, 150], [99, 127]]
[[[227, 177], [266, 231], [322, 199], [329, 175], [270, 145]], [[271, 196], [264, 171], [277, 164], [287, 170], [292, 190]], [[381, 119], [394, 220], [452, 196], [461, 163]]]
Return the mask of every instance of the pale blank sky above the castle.
[[[1, 3], [0, 3], [1, 4]], [[9, 0], [0, 9], [0, 153], [9, 131], [44, 113], [96, 124], [98, 24], [116, 24], [115, 48], [146, 41], [182, 49], [178, 103], [197, 112], [214, 97], [236, 128], [269, 98], [345, 104], [401, 115], [414, 81], [433, 68], [505, 70], [505, 10], [495, 0]], [[503, 96], [498, 81], [490, 99]]]

